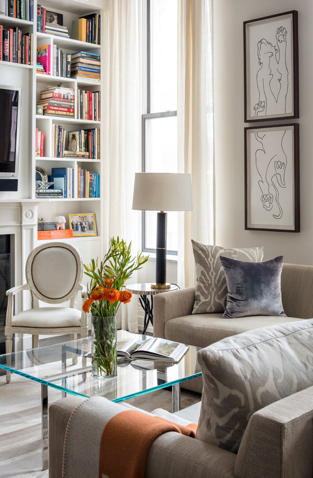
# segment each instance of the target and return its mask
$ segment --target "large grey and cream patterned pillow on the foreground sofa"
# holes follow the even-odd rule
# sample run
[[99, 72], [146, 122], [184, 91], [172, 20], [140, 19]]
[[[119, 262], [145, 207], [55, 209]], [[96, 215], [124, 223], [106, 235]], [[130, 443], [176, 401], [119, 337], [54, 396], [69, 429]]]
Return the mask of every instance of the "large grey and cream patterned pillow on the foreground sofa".
[[313, 384], [313, 319], [263, 327], [199, 350], [196, 438], [237, 452], [251, 415]]

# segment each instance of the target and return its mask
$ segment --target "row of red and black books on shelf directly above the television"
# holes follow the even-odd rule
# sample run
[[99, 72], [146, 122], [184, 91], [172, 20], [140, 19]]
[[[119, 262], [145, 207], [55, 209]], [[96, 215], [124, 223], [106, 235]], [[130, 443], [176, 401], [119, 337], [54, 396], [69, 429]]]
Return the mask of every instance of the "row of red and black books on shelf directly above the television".
[[33, 65], [33, 34], [22, 34], [18, 27], [5, 30], [0, 25], [0, 60]]

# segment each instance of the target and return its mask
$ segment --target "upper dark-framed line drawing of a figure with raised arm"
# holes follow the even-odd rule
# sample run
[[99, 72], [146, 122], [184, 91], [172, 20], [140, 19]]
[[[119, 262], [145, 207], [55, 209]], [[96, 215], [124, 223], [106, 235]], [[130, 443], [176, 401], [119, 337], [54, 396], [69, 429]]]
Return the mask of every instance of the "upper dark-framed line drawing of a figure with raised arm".
[[244, 121], [299, 117], [297, 12], [243, 23]]

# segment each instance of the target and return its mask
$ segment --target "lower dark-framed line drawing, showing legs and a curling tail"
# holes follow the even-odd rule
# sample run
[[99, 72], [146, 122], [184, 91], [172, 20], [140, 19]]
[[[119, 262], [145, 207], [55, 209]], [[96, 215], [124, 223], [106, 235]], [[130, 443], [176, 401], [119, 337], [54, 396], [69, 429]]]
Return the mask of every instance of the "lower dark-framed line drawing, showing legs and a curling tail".
[[300, 232], [299, 125], [244, 129], [245, 229]]

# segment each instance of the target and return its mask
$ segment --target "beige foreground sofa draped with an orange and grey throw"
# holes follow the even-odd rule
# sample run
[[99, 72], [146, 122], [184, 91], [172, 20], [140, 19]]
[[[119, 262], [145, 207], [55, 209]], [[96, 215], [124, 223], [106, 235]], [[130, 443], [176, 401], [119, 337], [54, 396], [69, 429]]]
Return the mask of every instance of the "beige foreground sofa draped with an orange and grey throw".
[[[79, 397], [49, 408], [49, 477], [62, 476], [65, 430]], [[194, 406], [189, 407], [191, 410]], [[177, 413], [179, 415], [179, 412]], [[188, 408], [183, 410], [188, 418]], [[196, 421], [191, 414], [190, 419]], [[255, 412], [238, 454], [175, 432], [152, 443], [146, 478], [311, 478], [313, 462], [313, 387]], [[86, 434], [89, 433], [86, 430]], [[90, 476], [89, 478], [94, 478]]]

